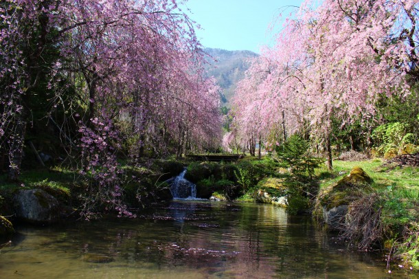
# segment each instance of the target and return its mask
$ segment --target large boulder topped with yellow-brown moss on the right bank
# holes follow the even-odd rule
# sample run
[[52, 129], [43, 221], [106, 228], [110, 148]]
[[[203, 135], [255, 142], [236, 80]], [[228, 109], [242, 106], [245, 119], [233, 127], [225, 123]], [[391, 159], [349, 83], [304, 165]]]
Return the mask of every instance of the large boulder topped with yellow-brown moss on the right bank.
[[317, 217], [323, 219], [331, 229], [341, 229], [346, 222], [350, 203], [372, 192], [372, 182], [362, 168], [353, 168], [349, 175], [319, 192], [315, 208]]

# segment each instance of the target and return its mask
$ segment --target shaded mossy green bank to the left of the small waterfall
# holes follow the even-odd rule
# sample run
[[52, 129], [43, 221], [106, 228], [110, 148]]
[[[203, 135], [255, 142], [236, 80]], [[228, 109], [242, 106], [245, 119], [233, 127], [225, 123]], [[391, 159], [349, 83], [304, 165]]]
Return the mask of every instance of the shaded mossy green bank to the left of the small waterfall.
[[[93, 216], [100, 212], [112, 212], [109, 199], [118, 199], [128, 209], [137, 210], [150, 203], [171, 199], [166, 179], [183, 170], [183, 162], [155, 160], [144, 166], [118, 166], [115, 181], [120, 195], [101, 192], [102, 186], [91, 172], [63, 166], [23, 170], [18, 183], [8, 182], [5, 174], [0, 175], [0, 216], [14, 216], [13, 197], [19, 190], [41, 189], [58, 199], [64, 208], [78, 218], [83, 214]], [[100, 202], [91, 202], [96, 195]], [[102, 195], [102, 196], [99, 196]], [[88, 204], [89, 203], [89, 204]], [[115, 211], [115, 210], [114, 210]], [[84, 215], [85, 216], [85, 215]]]

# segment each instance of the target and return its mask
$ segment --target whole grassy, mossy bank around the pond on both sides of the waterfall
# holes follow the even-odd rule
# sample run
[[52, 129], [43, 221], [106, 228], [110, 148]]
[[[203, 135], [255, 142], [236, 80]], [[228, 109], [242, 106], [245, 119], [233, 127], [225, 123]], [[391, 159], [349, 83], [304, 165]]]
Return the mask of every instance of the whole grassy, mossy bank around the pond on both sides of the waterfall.
[[[188, 166], [185, 177], [196, 183], [196, 196], [208, 199], [235, 200], [258, 203], [277, 203], [288, 208], [288, 214], [312, 214], [316, 199], [324, 189], [332, 188], [350, 171], [359, 166], [372, 178], [369, 190], [362, 192], [357, 199], [347, 201], [348, 208], [365, 197], [376, 199], [366, 210], [378, 210], [379, 234], [363, 249], [383, 249], [390, 260], [396, 260], [405, 269], [418, 269], [418, 189], [419, 168], [400, 167], [383, 164], [381, 159], [365, 161], [335, 161], [335, 169], [317, 168], [313, 179], [293, 180], [289, 169], [282, 168], [269, 158], [261, 160], [247, 157], [238, 163], [194, 163], [187, 161], [155, 161], [148, 167], [122, 167], [121, 179], [127, 210], [138, 214], [139, 208], [147, 208], [170, 201], [170, 186], [165, 181], [178, 175]], [[16, 192], [40, 189], [55, 197], [61, 207], [58, 219], [80, 219], [112, 212], [109, 208], [94, 208], [90, 215], [80, 214], [86, 202], [82, 190], [87, 186], [86, 177], [78, 171], [65, 168], [34, 170], [23, 172], [20, 184], [2, 183], [0, 185], [1, 215], [8, 216], [14, 222]], [[286, 197], [286, 200], [280, 197]], [[345, 199], [343, 197], [342, 199]], [[115, 212], [113, 210], [113, 212]], [[119, 212], [121, 213], [121, 212]], [[317, 212], [318, 213], [318, 212]], [[316, 211], [314, 211], [316, 216]], [[321, 215], [321, 214], [320, 214]], [[317, 217], [319, 215], [317, 214]], [[346, 215], [345, 215], [346, 216]], [[320, 216], [321, 217], [321, 216]], [[324, 219], [317, 218], [324, 222]], [[344, 225], [348, 223], [343, 218]], [[42, 222], [41, 222], [42, 223]], [[340, 224], [342, 225], [342, 224]], [[341, 232], [342, 240], [348, 241], [346, 227], [330, 227]], [[346, 239], [343, 237], [345, 236]], [[363, 233], [357, 232], [349, 239], [352, 249], [361, 248]], [[365, 245], [364, 245], [365, 246]]]

